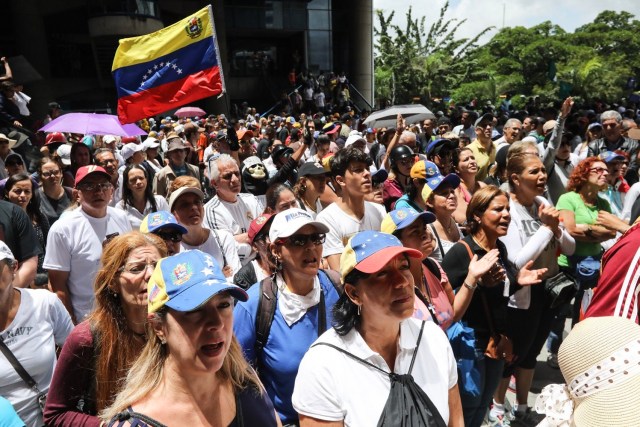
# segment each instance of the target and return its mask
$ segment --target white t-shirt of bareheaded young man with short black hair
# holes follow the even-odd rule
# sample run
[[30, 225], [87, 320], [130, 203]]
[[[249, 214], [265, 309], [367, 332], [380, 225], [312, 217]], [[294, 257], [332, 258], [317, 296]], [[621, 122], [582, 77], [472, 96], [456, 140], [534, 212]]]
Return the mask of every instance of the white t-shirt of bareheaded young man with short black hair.
[[322, 248], [322, 256], [342, 253], [349, 238], [359, 231], [379, 231], [385, 215], [384, 206], [377, 203], [365, 201], [364, 216], [361, 219], [348, 215], [336, 203], [331, 203], [316, 217], [318, 221], [329, 227], [327, 240]]

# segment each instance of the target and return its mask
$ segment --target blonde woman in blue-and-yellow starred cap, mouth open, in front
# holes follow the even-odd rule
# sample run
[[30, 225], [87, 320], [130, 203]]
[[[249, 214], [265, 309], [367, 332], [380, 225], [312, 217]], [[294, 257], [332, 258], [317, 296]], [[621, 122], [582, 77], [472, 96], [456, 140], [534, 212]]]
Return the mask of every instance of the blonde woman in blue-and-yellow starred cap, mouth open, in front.
[[148, 341], [101, 417], [109, 426], [276, 426], [271, 400], [233, 336], [218, 263], [193, 250], [160, 260], [147, 285]]

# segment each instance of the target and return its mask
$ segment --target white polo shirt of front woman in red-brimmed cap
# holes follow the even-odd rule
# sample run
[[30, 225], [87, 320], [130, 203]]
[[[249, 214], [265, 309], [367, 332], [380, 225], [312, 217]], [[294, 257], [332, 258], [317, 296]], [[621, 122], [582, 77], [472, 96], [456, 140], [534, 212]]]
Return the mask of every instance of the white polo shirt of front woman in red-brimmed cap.
[[[400, 324], [393, 372], [409, 371], [421, 323], [410, 318]], [[342, 348], [385, 372], [391, 371], [355, 328], [343, 337], [332, 328], [316, 340], [300, 362], [292, 397], [294, 409], [319, 420], [344, 420], [347, 427], [375, 426], [389, 397], [389, 377], [334, 348], [316, 345], [320, 342]], [[448, 423], [449, 389], [457, 384], [458, 371], [446, 335], [433, 322], [424, 325], [411, 375]]]

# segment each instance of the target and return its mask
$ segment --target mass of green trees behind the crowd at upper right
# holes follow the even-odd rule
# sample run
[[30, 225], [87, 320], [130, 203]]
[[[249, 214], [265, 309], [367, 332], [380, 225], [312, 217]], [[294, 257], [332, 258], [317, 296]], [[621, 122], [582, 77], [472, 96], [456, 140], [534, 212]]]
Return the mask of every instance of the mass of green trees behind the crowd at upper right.
[[446, 3], [426, 30], [426, 17], [406, 13], [406, 26], [376, 11], [376, 98], [396, 104], [419, 97], [497, 102], [510, 93], [556, 98], [561, 87], [585, 101], [613, 101], [627, 79], [640, 75], [640, 21], [628, 12], [604, 11], [567, 33], [546, 21], [531, 28], [503, 28], [483, 46], [457, 38], [464, 20], [448, 19]]

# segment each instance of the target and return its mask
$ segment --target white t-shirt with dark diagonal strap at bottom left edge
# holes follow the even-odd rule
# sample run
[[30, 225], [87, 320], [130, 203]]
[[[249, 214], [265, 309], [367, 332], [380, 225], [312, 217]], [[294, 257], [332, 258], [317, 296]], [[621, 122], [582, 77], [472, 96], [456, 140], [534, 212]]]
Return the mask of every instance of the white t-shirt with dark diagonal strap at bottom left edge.
[[[0, 337], [38, 389], [46, 393], [56, 366], [56, 344], [62, 347], [73, 323], [54, 293], [43, 289], [17, 290], [18, 312]], [[0, 355], [0, 396], [11, 402], [28, 427], [43, 425], [37, 393], [25, 384], [4, 355]]]

